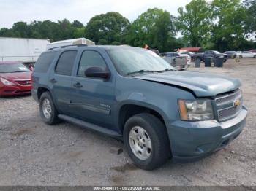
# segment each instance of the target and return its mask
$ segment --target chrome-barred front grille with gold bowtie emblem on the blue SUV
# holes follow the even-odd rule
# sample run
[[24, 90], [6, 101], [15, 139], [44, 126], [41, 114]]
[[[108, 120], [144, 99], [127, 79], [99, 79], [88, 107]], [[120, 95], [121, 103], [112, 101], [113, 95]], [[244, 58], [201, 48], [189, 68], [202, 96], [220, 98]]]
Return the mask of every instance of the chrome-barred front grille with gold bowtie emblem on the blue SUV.
[[[240, 104], [235, 104], [237, 101]], [[229, 120], [241, 112], [243, 97], [241, 95], [241, 90], [235, 90], [233, 93], [226, 93], [224, 95], [219, 95], [215, 99], [217, 106], [217, 114], [219, 121]]]

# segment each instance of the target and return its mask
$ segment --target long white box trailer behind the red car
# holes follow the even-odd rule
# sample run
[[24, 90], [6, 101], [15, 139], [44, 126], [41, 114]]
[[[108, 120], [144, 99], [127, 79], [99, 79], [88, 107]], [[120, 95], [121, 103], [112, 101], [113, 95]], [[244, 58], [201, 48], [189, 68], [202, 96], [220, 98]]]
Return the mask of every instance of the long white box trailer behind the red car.
[[48, 39], [0, 37], [0, 61], [34, 63], [49, 43]]

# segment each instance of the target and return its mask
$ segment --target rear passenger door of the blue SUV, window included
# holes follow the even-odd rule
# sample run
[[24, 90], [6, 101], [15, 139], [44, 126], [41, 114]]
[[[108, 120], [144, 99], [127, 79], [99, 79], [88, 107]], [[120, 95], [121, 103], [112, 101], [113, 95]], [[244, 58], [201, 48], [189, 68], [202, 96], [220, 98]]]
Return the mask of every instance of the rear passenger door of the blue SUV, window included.
[[77, 50], [66, 50], [61, 52], [61, 55], [54, 66], [54, 72], [52, 72], [49, 77], [53, 98], [59, 112], [63, 114], [70, 113], [71, 74], [77, 55]]

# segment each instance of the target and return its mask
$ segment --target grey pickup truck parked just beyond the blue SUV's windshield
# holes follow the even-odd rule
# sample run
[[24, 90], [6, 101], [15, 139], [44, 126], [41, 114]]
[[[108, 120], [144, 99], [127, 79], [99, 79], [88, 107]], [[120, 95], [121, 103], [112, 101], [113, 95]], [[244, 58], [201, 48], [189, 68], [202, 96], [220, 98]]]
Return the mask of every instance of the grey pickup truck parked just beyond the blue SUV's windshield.
[[191, 58], [189, 55], [181, 54], [180, 52], [165, 52], [162, 53], [163, 58], [171, 66], [179, 70], [184, 70], [191, 64]]

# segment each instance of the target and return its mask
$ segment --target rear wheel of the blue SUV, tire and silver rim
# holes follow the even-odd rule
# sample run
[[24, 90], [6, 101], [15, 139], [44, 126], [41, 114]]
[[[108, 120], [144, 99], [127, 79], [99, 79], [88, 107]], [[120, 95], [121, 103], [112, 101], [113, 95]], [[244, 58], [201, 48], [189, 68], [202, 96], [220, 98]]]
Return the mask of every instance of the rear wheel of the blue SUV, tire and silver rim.
[[60, 121], [58, 117], [59, 113], [53, 104], [53, 98], [49, 92], [42, 93], [39, 100], [39, 111], [41, 119], [48, 125], [54, 125]]

